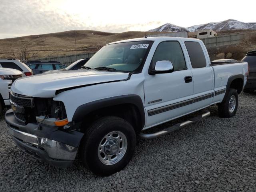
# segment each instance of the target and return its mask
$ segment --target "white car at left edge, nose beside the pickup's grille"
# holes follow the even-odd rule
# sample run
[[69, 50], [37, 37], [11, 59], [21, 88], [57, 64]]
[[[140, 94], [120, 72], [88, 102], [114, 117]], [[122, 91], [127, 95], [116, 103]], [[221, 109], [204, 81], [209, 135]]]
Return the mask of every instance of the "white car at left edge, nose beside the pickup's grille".
[[22, 77], [22, 72], [12, 68], [0, 68], [0, 113], [10, 106], [9, 89], [12, 83]]

